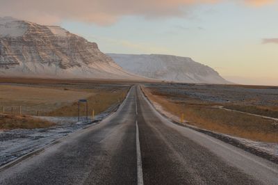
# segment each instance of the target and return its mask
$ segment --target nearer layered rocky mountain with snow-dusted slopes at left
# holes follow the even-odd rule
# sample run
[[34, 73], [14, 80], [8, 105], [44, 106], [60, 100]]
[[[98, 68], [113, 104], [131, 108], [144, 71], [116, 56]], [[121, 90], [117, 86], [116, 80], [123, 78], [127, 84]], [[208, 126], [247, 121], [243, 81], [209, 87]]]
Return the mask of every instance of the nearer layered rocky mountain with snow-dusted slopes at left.
[[59, 26], [0, 17], [0, 76], [140, 79]]

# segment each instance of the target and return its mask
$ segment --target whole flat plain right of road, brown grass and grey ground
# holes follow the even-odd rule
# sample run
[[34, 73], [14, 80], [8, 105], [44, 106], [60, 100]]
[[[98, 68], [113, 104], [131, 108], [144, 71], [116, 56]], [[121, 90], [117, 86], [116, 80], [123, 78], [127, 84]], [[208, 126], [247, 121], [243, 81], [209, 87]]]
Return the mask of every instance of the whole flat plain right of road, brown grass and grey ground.
[[147, 84], [145, 93], [193, 126], [278, 143], [278, 87], [165, 83]]

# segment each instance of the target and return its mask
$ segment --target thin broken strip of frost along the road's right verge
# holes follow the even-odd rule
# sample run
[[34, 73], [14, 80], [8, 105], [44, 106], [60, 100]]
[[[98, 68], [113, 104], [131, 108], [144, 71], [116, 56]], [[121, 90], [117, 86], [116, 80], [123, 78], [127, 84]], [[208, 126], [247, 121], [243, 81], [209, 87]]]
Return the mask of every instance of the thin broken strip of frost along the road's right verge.
[[[179, 117], [177, 117], [176, 115], [173, 115], [172, 113], [165, 111], [160, 104], [158, 104], [156, 102], [152, 102], [152, 104], [154, 105], [156, 110], [158, 110], [160, 113], [165, 115], [165, 117], [170, 118], [170, 120], [174, 120], [175, 122], [180, 122]], [[186, 124], [187, 127], [199, 129], [197, 127], [194, 127], [194, 126], [188, 124], [186, 121], [183, 124]], [[226, 136], [228, 138], [236, 140], [238, 143], [245, 145], [246, 147], [251, 147], [254, 150], [257, 150], [260, 152], [265, 152], [266, 154], [270, 154], [270, 156], [275, 156], [276, 158], [278, 158], [278, 143], [264, 143], [264, 142], [249, 140], [249, 139], [245, 139], [245, 138], [238, 138], [238, 137], [230, 136], [227, 134], [215, 133], [213, 131], [209, 131], [209, 132], [212, 132], [217, 135]]]

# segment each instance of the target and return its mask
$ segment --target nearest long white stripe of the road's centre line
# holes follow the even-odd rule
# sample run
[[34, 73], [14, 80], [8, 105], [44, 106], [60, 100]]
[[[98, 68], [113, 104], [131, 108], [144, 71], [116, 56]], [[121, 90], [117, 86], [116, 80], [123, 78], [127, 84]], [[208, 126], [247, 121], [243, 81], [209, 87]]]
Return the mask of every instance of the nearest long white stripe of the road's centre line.
[[139, 140], [138, 121], [136, 120], [136, 153], [137, 153], [137, 184], [143, 185], [142, 159]]

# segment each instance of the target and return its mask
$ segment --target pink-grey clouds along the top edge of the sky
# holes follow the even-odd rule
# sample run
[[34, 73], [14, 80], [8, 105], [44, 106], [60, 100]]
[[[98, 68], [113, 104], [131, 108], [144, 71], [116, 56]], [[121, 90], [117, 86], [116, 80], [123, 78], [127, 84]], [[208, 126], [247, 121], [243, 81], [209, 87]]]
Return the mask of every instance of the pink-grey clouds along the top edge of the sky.
[[[125, 15], [178, 17], [185, 9], [201, 3], [223, 0], [1, 0], [0, 16], [12, 16], [41, 24], [56, 24], [63, 19], [111, 24]], [[271, 0], [245, 0], [262, 5]]]

